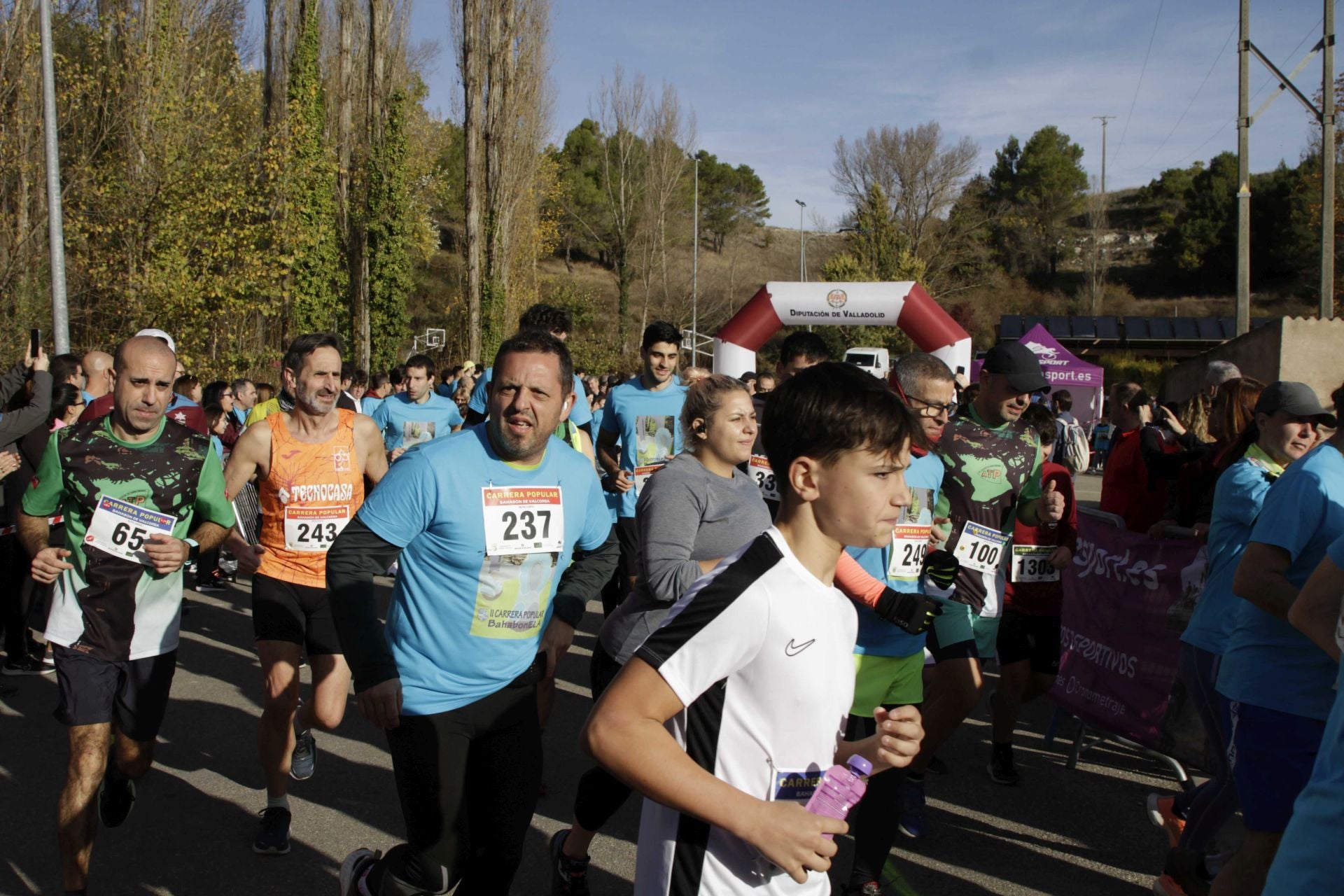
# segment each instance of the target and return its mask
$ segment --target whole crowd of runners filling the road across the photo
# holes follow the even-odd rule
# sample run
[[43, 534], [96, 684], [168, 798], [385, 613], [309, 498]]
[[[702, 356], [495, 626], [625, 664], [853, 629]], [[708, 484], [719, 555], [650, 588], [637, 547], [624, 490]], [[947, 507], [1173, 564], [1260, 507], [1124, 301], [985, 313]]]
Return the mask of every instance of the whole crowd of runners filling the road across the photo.
[[[1099, 466], [1066, 458], [1068, 398], [1043, 400], [1036, 356], [1001, 343], [970, 387], [917, 352], [886, 382], [796, 332], [773, 372], [735, 377], [680, 369], [657, 321], [637, 375], [597, 377], [574, 369], [570, 329], [536, 305], [482, 371], [415, 355], [372, 376], [304, 334], [278, 387], [202, 384], [161, 330], [82, 359], [30, 347], [0, 380], [4, 672], [58, 680], [65, 892], [97, 892], [95, 832], [126, 819], [153, 762], [184, 587], [235, 575], [261, 665], [251, 849], [289, 853], [290, 780], [317, 774], [351, 685], [386, 732], [406, 841], [351, 853], [343, 896], [509, 892], [556, 664], [590, 604], [593, 764], [550, 842], [552, 895], [590, 892], [591, 844], [632, 795], [637, 893], [831, 892], [836, 834], [855, 844], [841, 892], [890, 892], [892, 846], [933, 833], [926, 778], [991, 662], [986, 780], [1020, 783], [1020, 708], [1059, 670], [1074, 474]], [[1148, 438], [1140, 392], [1111, 394], [1109, 481]], [[1328, 891], [1344, 430], [1300, 383], [1219, 377], [1206, 398], [1223, 439], [1179, 662], [1215, 767], [1149, 802], [1172, 848], [1154, 891]], [[806, 811], [852, 756], [872, 772], [848, 819]], [[1245, 841], [1222, 854], [1238, 810]]]

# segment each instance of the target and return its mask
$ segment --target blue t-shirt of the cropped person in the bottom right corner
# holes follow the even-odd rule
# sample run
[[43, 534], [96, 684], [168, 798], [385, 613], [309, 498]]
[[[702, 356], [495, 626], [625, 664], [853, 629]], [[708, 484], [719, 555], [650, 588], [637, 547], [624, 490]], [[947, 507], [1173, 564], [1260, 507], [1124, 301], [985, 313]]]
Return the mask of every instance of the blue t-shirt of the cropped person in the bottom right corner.
[[[1344, 536], [1329, 549], [1344, 568]], [[1274, 856], [1265, 896], [1328, 893], [1344, 880], [1344, 665], [1335, 682], [1335, 708], [1325, 723], [1321, 751], [1306, 787], [1293, 803], [1293, 818]]]

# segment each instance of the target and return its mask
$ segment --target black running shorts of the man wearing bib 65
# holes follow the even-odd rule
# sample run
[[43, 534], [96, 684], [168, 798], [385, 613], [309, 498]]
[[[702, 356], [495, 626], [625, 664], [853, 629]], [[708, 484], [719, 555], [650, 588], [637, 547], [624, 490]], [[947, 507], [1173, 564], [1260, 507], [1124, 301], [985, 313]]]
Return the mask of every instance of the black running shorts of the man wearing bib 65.
[[117, 728], [132, 740], [146, 743], [159, 736], [177, 669], [176, 650], [112, 662], [54, 643], [51, 657], [59, 689], [52, 713], [56, 721], [97, 725], [116, 719]]

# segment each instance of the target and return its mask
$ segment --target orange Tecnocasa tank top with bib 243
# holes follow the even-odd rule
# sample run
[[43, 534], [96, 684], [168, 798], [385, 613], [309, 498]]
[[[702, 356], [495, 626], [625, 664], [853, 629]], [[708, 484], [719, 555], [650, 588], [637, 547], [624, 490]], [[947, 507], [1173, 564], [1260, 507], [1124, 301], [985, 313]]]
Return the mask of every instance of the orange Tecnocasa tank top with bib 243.
[[327, 587], [327, 548], [364, 502], [364, 476], [355, 459], [355, 411], [337, 408], [336, 434], [321, 445], [300, 442], [284, 414], [270, 424], [270, 473], [258, 486], [258, 572], [282, 582]]

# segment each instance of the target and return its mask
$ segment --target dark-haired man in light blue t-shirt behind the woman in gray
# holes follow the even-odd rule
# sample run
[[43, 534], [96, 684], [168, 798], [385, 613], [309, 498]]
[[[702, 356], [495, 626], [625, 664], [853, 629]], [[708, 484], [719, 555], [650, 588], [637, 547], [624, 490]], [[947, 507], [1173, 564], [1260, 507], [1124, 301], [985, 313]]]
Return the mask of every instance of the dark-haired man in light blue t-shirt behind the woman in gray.
[[621, 494], [616, 535], [621, 541], [620, 575], [626, 592], [634, 588], [640, 574], [640, 531], [634, 523], [640, 489], [681, 451], [685, 387], [676, 376], [680, 340], [681, 333], [667, 321], [645, 328], [640, 343], [644, 371], [612, 390], [597, 437], [597, 462], [610, 477], [607, 488]]

